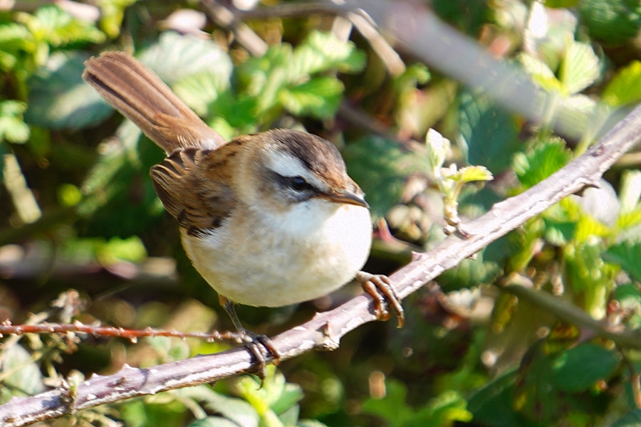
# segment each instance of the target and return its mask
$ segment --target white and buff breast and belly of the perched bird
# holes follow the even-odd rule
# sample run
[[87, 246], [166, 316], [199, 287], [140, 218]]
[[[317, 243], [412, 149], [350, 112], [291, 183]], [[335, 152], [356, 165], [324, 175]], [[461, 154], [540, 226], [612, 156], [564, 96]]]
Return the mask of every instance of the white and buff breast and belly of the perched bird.
[[185, 251], [212, 288], [244, 305], [280, 307], [327, 295], [370, 253], [368, 209], [322, 199], [285, 214], [246, 209], [211, 233], [183, 233]]

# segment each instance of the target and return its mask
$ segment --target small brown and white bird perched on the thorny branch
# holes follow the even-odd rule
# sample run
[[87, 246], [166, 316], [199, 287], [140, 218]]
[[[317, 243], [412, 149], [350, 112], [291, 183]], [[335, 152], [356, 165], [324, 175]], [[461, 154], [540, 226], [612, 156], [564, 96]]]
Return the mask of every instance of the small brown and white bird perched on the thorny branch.
[[155, 191], [177, 221], [194, 268], [264, 373], [264, 335], [244, 329], [235, 304], [282, 307], [314, 300], [353, 278], [374, 300], [377, 318], [404, 313], [389, 278], [360, 269], [372, 243], [363, 191], [334, 144], [308, 132], [273, 129], [227, 142], [147, 66], [107, 51], [85, 61], [83, 79], [167, 157], [150, 170]]

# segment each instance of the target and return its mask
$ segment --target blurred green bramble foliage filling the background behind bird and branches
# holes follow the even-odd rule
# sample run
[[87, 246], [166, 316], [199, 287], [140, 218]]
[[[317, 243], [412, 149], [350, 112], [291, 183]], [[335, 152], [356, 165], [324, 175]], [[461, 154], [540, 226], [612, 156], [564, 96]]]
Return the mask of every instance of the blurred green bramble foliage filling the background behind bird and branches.
[[[585, 122], [584, 135], [562, 139], [550, 123], [523, 120], [417, 62], [411, 48], [397, 49], [399, 57], [375, 52], [372, 38], [341, 31], [348, 21], [333, 14], [270, 12], [287, 4], [238, 12], [266, 41], [264, 52], [206, 19], [195, 1], [17, 1], [0, 12], [0, 320], [231, 327], [152, 189], [147, 172], [162, 151], [80, 79], [83, 61], [100, 51], [134, 53], [226, 138], [300, 127], [335, 142], [380, 226], [365, 268], [372, 273], [391, 273], [410, 251], [442, 241], [457, 212], [468, 221], [542, 181], [598, 134]], [[526, 70], [580, 117], [641, 100], [638, 1], [416, 6]], [[427, 146], [416, 142], [426, 137]], [[599, 189], [564, 199], [444, 273], [439, 288], [412, 295], [402, 330], [394, 321], [360, 327], [335, 352], [270, 368], [261, 389], [243, 376], [52, 425], [639, 425], [638, 350], [501, 290], [527, 285], [610, 327], [640, 327], [639, 162], [627, 154]], [[470, 175], [456, 182], [484, 181], [485, 171], [494, 180], [458, 186], [453, 169], [440, 169], [449, 164], [486, 168], [463, 169]], [[356, 292], [348, 286], [298, 307], [240, 307], [239, 315], [271, 335]], [[162, 337], [7, 336], [0, 404], [125, 363], [152, 367], [226, 348]]]

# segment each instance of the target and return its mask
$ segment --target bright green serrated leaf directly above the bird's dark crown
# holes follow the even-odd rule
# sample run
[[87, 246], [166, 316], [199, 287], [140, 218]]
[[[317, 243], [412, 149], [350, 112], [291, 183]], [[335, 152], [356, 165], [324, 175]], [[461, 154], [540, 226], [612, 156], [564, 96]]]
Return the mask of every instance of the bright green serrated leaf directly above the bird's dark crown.
[[333, 77], [317, 77], [280, 93], [283, 105], [296, 115], [311, 115], [318, 119], [333, 117], [341, 95], [343, 83]]

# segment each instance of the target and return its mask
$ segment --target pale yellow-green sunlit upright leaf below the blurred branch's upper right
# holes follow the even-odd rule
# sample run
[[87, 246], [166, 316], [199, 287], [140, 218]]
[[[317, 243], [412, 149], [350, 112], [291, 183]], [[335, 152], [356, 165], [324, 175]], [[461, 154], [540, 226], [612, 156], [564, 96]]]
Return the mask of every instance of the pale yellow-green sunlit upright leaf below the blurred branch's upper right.
[[561, 63], [561, 83], [566, 94], [573, 95], [587, 88], [599, 76], [599, 59], [590, 45], [568, 41], [566, 56]]

